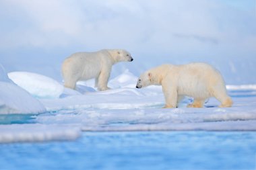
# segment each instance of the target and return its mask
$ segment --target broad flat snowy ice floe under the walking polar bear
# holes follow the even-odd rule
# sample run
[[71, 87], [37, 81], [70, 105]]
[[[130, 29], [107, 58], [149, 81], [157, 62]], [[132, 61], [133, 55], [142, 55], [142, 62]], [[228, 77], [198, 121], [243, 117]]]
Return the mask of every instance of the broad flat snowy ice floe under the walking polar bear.
[[[84, 131], [256, 130], [253, 85], [228, 86], [232, 108], [218, 108], [216, 99], [209, 99], [205, 108], [186, 108], [192, 101], [188, 97], [179, 108], [162, 109], [162, 88], [135, 89], [136, 81], [137, 77], [125, 71], [110, 80], [115, 89], [67, 95], [55, 101], [40, 99], [50, 113], [37, 116], [36, 121], [79, 124]], [[93, 88], [94, 83], [84, 84]]]

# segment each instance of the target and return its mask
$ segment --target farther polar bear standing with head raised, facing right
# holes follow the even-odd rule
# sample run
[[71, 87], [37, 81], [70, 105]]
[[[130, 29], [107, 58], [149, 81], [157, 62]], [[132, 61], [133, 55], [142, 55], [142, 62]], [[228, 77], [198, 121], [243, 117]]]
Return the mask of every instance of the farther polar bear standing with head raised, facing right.
[[121, 61], [132, 61], [126, 50], [99, 50], [97, 52], [77, 52], [66, 58], [62, 65], [64, 86], [75, 89], [79, 80], [95, 78], [98, 90], [109, 89], [108, 78], [113, 65]]

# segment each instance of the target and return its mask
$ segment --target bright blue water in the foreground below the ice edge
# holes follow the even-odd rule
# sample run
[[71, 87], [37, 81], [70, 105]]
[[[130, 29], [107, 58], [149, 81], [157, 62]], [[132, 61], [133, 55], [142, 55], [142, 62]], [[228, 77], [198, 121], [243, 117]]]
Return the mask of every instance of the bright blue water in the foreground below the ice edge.
[[84, 132], [1, 144], [0, 169], [256, 169], [256, 132]]

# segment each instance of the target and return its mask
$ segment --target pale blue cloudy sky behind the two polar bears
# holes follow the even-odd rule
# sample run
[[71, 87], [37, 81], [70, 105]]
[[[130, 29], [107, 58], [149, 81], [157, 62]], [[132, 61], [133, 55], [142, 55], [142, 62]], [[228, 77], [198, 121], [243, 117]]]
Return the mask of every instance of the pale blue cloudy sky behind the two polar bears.
[[74, 52], [123, 48], [133, 74], [207, 62], [229, 84], [256, 83], [255, 0], [0, 0], [0, 63], [61, 81]]

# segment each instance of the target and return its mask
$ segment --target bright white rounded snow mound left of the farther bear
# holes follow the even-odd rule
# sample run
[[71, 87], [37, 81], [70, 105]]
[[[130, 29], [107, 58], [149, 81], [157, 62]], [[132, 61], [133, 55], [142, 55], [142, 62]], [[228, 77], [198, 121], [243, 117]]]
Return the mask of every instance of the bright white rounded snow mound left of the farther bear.
[[55, 99], [63, 93], [64, 87], [54, 79], [30, 72], [11, 72], [9, 78], [37, 98]]

